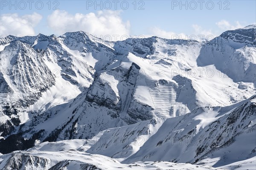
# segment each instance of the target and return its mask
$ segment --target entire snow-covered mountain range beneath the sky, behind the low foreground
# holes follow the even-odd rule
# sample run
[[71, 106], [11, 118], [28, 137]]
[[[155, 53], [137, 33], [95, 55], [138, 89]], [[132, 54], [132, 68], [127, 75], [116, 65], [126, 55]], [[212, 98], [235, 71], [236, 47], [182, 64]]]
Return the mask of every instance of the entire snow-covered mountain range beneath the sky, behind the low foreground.
[[[221, 167], [251, 159], [256, 149], [250, 138], [255, 133], [255, 104], [250, 102], [256, 91], [255, 37], [256, 26], [250, 25], [203, 43], [159, 37], [108, 42], [82, 31], [1, 38], [0, 152], [27, 149], [38, 141], [90, 143], [98, 136], [129, 139], [125, 146], [81, 144], [70, 154], [101, 154], [125, 167], [133, 161], [143, 161], [140, 166], [172, 161]], [[246, 152], [223, 163], [247, 138]], [[170, 147], [172, 139], [200, 139], [201, 144]], [[17, 145], [3, 149], [10, 140]], [[136, 141], [142, 146], [132, 145]], [[1, 166], [13, 168], [5, 162], [23, 162], [31, 154], [1, 156]], [[99, 166], [78, 159], [49, 163], [47, 154], [31, 155], [32, 162], [44, 162], [32, 168], [50, 168], [59, 161], [52, 168]]]

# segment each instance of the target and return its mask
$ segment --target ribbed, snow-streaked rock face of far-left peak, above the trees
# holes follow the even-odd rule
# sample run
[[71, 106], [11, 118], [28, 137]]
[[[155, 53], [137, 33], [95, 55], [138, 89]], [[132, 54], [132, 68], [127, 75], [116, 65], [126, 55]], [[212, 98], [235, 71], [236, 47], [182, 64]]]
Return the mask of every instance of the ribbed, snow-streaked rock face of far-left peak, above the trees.
[[20, 41], [11, 42], [1, 51], [1, 77], [3, 85], [8, 87], [2, 92], [5, 101], [27, 107], [55, 85], [55, 77], [44, 63], [43, 55]]

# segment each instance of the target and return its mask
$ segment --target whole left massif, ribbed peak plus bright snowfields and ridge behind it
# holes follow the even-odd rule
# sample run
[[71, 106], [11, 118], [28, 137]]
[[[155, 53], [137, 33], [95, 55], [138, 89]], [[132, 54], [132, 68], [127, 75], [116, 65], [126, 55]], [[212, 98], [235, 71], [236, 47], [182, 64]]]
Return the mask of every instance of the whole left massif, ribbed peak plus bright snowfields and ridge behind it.
[[[86, 36], [84, 33], [82, 35]], [[74, 33], [70, 35], [70, 39], [72, 36], [77, 37]], [[7, 131], [2, 133], [2, 136], [12, 133], [13, 126], [28, 121], [29, 117], [33, 116], [30, 115], [31, 111], [32, 113], [44, 111], [66, 103], [93, 82], [95, 70], [89, 61], [93, 58], [91, 52], [107, 50], [92, 48], [88, 51], [88, 58], [67, 48], [62, 40], [63, 38], [54, 35], [48, 37], [42, 34], [35, 37], [8, 36], [1, 39], [1, 47], [4, 48], [0, 52], [2, 64], [0, 79], [1, 92], [3, 92], [0, 121], [1, 132]], [[87, 41], [90, 42], [89, 39]], [[19, 44], [24, 46], [22, 53], [18, 51]], [[89, 47], [93, 46], [95, 45], [89, 45]], [[16, 55], [19, 57], [13, 57]], [[39, 62], [31, 63], [30, 61], [34, 62], [34, 58]], [[15, 62], [17, 59], [18, 61]], [[16, 72], [11, 73], [10, 70]], [[31, 73], [30, 70], [34, 72]], [[16, 83], [12, 83], [13, 77], [16, 78]], [[11, 119], [12, 115], [15, 116], [15, 120]], [[7, 124], [11, 124], [11, 127], [7, 128]]]

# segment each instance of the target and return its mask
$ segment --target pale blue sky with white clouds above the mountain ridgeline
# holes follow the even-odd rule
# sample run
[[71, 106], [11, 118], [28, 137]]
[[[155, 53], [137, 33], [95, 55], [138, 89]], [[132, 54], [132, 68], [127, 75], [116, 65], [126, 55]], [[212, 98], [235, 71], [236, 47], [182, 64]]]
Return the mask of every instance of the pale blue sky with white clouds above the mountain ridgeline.
[[[9, 0], [0, 3], [1, 35], [59, 35], [81, 30], [98, 37], [107, 34], [166, 38], [211, 34], [215, 37], [228, 29], [256, 23], [255, 0], [46, 0], [32, 3], [24, 0], [11, 3]], [[96, 3], [99, 5], [95, 6]]]

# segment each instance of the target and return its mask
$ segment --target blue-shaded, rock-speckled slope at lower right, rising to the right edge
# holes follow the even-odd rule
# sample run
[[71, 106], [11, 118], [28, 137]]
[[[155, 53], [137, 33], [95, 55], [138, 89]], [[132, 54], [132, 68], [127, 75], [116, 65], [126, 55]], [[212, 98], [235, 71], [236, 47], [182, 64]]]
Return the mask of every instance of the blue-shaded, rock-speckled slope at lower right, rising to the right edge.
[[[256, 96], [253, 96], [251, 99], [255, 98]], [[244, 103], [224, 108], [204, 108], [206, 111], [201, 109], [179, 116], [177, 119], [167, 119], [159, 128], [158, 134], [148, 139], [140, 151], [126, 159], [124, 163], [138, 160], [138, 156], [141, 161], [168, 160], [193, 164], [198, 161], [204, 162], [202, 160], [206, 157], [220, 156], [224, 159], [227, 155], [231, 158], [232, 154], [236, 154], [236, 161], [241, 161], [256, 156], [252, 152], [255, 148], [253, 143], [256, 141], [256, 136], [253, 135], [256, 132], [256, 124], [253, 120], [256, 116], [255, 102], [250, 102], [248, 99]], [[210, 117], [214, 119], [202, 127], [203, 122], [211, 119]], [[244, 139], [250, 140], [244, 142]], [[150, 146], [146, 146], [147, 144]], [[240, 146], [241, 144], [243, 147]], [[155, 149], [147, 151], [148, 148], [153, 147]], [[160, 156], [161, 150], [165, 150], [165, 156]], [[175, 150], [181, 151], [176, 155]], [[228, 151], [230, 153], [227, 154]], [[219, 167], [232, 161], [220, 160], [213, 164], [214, 167]]]

